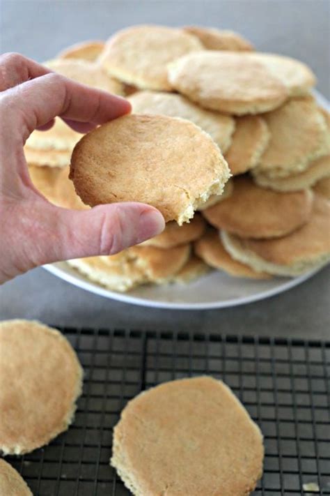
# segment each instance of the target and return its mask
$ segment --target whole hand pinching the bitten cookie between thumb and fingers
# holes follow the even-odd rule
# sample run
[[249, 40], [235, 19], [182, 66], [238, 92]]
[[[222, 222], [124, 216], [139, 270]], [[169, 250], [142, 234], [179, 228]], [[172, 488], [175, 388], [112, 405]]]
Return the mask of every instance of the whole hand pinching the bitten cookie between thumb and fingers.
[[86, 133], [130, 111], [123, 98], [52, 73], [19, 54], [0, 57], [0, 283], [35, 266], [113, 255], [164, 229], [162, 214], [141, 203], [72, 211], [49, 203], [29, 177], [23, 146], [60, 116]]

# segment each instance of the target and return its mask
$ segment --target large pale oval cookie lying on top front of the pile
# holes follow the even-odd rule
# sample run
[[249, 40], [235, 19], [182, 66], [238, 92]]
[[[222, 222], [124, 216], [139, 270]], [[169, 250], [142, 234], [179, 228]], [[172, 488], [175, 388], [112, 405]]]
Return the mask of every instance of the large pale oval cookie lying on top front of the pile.
[[262, 63], [238, 52], [203, 50], [168, 65], [173, 87], [202, 107], [229, 114], [259, 114], [288, 98], [284, 84]]

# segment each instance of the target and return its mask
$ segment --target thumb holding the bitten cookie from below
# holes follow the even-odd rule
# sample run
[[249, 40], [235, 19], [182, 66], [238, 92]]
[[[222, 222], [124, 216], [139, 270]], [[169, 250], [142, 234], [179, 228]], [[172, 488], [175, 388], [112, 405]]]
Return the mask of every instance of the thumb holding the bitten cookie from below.
[[113, 255], [164, 230], [162, 214], [143, 203], [117, 203], [73, 211], [50, 205], [47, 225], [52, 236], [42, 236], [41, 264], [95, 255]]

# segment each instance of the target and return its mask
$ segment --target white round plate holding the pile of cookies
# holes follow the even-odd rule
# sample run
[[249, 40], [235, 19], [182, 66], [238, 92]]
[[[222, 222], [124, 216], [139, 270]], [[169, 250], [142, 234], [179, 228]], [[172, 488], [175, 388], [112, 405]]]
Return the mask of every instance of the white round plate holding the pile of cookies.
[[[315, 96], [320, 105], [329, 110], [330, 105], [327, 99], [317, 91], [315, 91]], [[44, 268], [74, 286], [106, 298], [141, 306], [182, 310], [226, 308], [262, 300], [290, 290], [291, 287], [303, 283], [320, 270], [316, 269], [293, 279], [274, 278], [270, 280], [233, 278], [221, 271], [214, 271], [187, 285], [146, 285], [137, 287], [129, 293], [117, 293], [92, 283], [65, 262], [45, 265]]]

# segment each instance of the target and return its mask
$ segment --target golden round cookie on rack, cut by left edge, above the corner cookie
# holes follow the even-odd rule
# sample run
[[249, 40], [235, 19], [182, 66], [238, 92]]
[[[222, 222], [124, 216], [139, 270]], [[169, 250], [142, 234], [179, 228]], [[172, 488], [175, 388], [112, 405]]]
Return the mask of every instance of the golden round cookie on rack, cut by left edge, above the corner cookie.
[[0, 322], [0, 451], [28, 453], [72, 423], [83, 370], [72, 346], [40, 322]]

